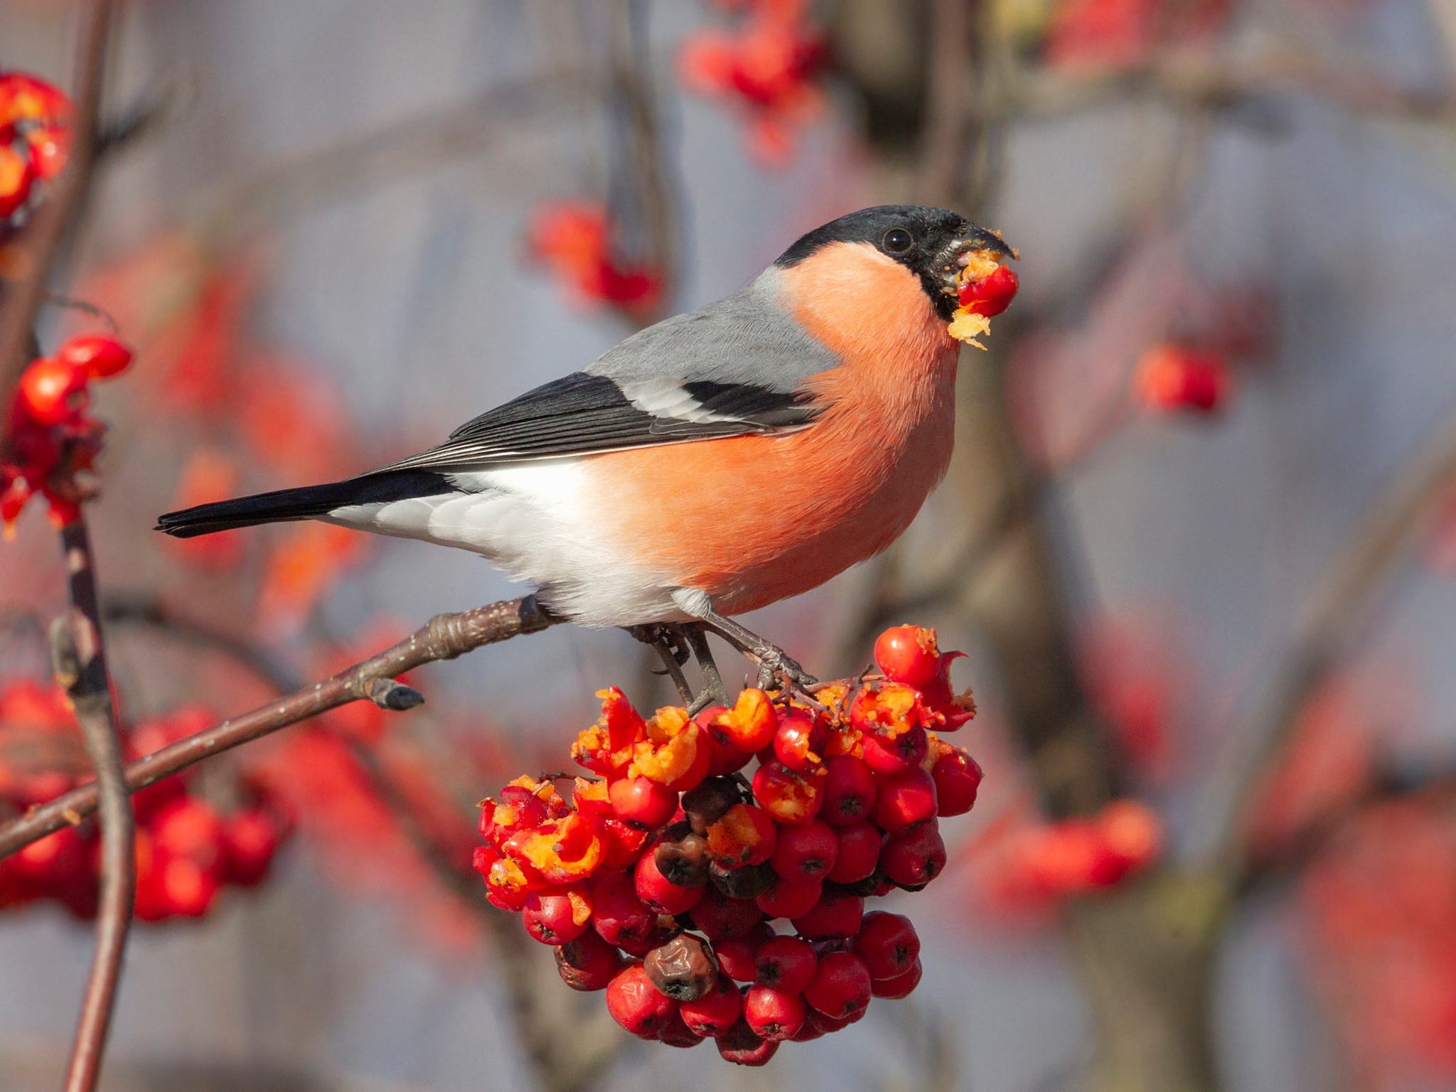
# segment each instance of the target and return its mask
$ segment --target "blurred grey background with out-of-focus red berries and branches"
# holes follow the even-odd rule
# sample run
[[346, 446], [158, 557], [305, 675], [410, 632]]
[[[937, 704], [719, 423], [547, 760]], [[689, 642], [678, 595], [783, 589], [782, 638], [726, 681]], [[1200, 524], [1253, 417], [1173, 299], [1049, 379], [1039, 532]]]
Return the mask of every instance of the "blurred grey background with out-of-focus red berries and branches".
[[[0, 4], [0, 71], [73, 86], [74, 9]], [[887, 900], [913, 997], [740, 1070], [620, 1032], [482, 903], [475, 802], [563, 766], [600, 687], [671, 699], [561, 626], [189, 775], [253, 866], [144, 890], [103, 1088], [1456, 1089], [1453, 61], [1452, 0], [122, 4], [41, 341], [137, 351], [92, 507], [137, 753], [520, 594], [156, 514], [427, 447], [863, 205], [999, 229], [1022, 291], [910, 533], [748, 619], [821, 677], [900, 622], [970, 654], [981, 798]], [[63, 578], [31, 508], [0, 789], [76, 763]], [[60, 1079], [76, 884], [0, 916], [0, 1091]]]

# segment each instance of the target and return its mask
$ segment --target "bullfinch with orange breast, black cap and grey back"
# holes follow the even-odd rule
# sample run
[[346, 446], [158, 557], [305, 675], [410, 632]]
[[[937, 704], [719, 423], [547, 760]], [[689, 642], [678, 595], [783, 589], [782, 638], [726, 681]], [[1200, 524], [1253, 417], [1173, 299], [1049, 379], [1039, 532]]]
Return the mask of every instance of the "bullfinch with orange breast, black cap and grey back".
[[[705, 629], [812, 683], [729, 616], [808, 591], [910, 526], [951, 460], [968, 255], [957, 213], [881, 205], [795, 242], [732, 296], [358, 478], [160, 517], [192, 537], [323, 520], [485, 555], [550, 614], [686, 646]], [[667, 632], [670, 636], [661, 636]], [[700, 702], [702, 703], [702, 702]]]

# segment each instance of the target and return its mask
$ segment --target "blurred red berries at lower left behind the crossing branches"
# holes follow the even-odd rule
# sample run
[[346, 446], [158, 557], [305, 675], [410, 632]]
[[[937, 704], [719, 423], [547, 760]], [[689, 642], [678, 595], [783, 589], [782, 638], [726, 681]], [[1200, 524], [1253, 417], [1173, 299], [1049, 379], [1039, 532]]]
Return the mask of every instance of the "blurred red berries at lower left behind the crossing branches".
[[[204, 709], [183, 709], [138, 725], [128, 757], [165, 747], [213, 722]], [[66, 696], [32, 681], [0, 690], [0, 817], [22, 815], [90, 780]], [[186, 775], [167, 778], [135, 796], [137, 917], [201, 917], [233, 884], [252, 887], [268, 875], [290, 823], [262, 786], [230, 786], [224, 814], [204, 799]], [[96, 914], [100, 833], [95, 823], [60, 830], [0, 860], [0, 909], [54, 900], [73, 914]]]

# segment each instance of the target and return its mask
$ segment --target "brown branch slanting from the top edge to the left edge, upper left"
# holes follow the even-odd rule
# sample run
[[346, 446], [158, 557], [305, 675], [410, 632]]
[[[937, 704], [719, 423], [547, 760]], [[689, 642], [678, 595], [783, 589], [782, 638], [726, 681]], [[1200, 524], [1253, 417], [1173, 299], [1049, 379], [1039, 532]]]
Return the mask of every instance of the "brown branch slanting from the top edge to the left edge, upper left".
[[45, 296], [51, 265], [80, 221], [90, 192], [111, 12], [112, 0], [90, 0], [82, 13], [70, 156], [54, 189], [12, 245], [17, 255], [12, 265], [20, 272], [0, 291], [0, 421], [10, 419], [15, 386], [33, 358], [35, 316]]

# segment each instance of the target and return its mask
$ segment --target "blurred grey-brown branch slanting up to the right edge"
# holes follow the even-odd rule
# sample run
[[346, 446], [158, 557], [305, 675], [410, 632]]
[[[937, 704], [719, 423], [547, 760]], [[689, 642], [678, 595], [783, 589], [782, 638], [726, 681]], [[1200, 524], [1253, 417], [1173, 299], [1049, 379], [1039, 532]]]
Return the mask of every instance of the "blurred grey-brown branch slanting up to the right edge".
[[1456, 479], [1456, 416], [1434, 430], [1406, 467], [1386, 486], [1326, 569], [1294, 630], [1257, 729], [1241, 738], [1214, 780], [1216, 859], [1227, 875], [1242, 872], [1241, 820], [1273, 776], [1300, 709], [1345, 660], [1406, 555], [1412, 533], [1449, 496]]

